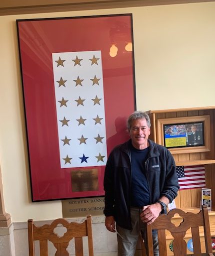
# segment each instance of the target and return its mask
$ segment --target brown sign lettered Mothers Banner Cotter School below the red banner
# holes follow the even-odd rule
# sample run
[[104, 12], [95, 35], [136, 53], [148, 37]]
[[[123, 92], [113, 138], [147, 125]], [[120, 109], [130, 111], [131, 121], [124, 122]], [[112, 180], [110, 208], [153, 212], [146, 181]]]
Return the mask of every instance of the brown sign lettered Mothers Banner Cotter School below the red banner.
[[85, 217], [103, 215], [104, 197], [90, 197], [62, 200], [62, 217]]

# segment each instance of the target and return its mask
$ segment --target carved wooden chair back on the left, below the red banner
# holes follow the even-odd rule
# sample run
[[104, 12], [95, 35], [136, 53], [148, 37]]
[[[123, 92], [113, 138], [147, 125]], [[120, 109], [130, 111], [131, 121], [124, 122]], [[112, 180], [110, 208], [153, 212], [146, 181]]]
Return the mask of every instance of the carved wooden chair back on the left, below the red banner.
[[[39, 240], [40, 256], [48, 256], [48, 240], [51, 241], [56, 248], [55, 256], [69, 256], [66, 248], [72, 238], [74, 238], [75, 255], [83, 256], [83, 236], [88, 237], [89, 256], [93, 256], [91, 215], [87, 215], [86, 220], [82, 223], [69, 223], [67, 220], [60, 218], [55, 219], [51, 224], [45, 224], [41, 227], [37, 227], [33, 224], [32, 219], [29, 219], [27, 222], [29, 256], [35, 255], [35, 240]], [[58, 224], [67, 229], [63, 236], [59, 236], [54, 231]]]

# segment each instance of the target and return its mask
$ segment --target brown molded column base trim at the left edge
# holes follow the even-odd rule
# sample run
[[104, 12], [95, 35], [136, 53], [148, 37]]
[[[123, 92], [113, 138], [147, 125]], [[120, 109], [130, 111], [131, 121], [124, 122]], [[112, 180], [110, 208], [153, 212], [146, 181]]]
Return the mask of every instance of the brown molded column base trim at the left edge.
[[4, 209], [3, 186], [1, 181], [1, 169], [0, 169], [0, 228], [8, 227], [10, 223], [11, 223], [10, 215], [6, 213]]

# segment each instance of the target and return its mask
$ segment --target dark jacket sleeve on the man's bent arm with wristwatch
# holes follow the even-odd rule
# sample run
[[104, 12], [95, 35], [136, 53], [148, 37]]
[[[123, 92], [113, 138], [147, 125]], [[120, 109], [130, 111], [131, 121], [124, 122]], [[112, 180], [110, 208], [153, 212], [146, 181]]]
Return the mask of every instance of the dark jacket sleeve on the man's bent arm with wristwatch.
[[161, 191], [161, 196], [165, 196], [169, 199], [169, 203], [177, 196], [177, 191], [179, 189], [178, 178], [176, 173], [175, 162], [167, 150], [166, 154], [166, 177], [163, 190]]

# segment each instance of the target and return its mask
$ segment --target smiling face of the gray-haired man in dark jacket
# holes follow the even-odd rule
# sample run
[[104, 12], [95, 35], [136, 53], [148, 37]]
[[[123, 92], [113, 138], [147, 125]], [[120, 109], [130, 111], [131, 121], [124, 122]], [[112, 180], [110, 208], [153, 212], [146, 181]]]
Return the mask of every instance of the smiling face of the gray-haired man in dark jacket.
[[145, 149], [147, 147], [150, 128], [145, 118], [136, 119], [131, 122], [129, 135], [134, 148]]

